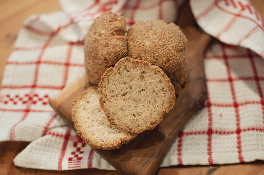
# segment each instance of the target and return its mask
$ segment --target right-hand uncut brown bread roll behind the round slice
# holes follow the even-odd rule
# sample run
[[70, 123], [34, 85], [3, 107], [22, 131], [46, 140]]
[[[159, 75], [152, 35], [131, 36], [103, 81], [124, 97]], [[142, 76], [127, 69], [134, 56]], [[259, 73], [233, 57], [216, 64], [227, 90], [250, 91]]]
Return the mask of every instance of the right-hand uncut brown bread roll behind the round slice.
[[187, 79], [186, 47], [187, 39], [174, 23], [139, 21], [128, 31], [128, 56], [159, 66], [176, 89]]

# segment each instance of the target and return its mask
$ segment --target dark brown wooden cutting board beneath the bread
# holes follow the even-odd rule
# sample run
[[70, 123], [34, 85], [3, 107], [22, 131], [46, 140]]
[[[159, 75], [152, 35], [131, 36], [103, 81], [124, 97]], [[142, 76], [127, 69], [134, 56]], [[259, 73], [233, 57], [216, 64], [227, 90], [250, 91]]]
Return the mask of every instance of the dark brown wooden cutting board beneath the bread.
[[[155, 129], [139, 134], [122, 148], [113, 151], [95, 150], [124, 174], [154, 175], [181, 129], [204, 106], [207, 89], [203, 55], [211, 37], [197, 30], [189, 2], [183, 6], [177, 24], [188, 39], [186, 56], [189, 75], [185, 87], [178, 94], [174, 108]], [[93, 85], [89, 84], [84, 74], [50, 101], [58, 115], [73, 129], [71, 102], [81, 96], [89, 86]]]

